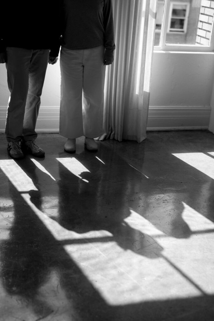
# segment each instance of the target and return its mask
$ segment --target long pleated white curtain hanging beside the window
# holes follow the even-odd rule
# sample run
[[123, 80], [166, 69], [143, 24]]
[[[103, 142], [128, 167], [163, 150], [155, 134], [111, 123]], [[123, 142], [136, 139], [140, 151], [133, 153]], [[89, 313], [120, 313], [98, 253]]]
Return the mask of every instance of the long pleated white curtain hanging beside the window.
[[99, 137], [146, 138], [156, 0], [112, 0], [115, 60], [106, 69], [104, 131]]

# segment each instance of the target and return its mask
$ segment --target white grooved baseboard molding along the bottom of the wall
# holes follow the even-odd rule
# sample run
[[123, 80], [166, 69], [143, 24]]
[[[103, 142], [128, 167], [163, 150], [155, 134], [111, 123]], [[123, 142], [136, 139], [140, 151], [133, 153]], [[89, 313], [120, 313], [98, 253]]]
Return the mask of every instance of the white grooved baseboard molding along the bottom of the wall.
[[[0, 133], [4, 133], [6, 107], [0, 106]], [[150, 106], [147, 131], [208, 129], [210, 106]], [[59, 132], [59, 107], [41, 106], [37, 133]]]

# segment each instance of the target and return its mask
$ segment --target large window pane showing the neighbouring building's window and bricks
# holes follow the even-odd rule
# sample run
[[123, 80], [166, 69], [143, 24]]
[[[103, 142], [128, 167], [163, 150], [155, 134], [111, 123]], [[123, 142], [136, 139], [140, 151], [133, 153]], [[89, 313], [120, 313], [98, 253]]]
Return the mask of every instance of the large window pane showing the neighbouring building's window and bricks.
[[[209, 46], [214, 0], [168, 0], [166, 44]], [[180, 18], [180, 19], [179, 19]]]

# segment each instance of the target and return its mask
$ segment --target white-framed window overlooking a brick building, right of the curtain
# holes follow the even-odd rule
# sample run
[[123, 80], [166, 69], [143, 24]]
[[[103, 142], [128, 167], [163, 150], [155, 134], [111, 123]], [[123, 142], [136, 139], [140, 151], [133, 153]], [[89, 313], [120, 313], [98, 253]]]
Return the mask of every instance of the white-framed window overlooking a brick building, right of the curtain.
[[210, 50], [214, 0], [157, 0], [155, 49]]

